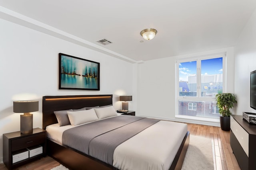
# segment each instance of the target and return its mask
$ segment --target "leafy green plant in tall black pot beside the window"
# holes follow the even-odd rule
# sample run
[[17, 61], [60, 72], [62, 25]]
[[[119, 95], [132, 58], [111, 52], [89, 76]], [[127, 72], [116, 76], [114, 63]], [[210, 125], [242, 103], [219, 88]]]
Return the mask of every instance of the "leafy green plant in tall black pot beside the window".
[[230, 131], [230, 115], [229, 109], [237, 103], [236, 96], [232, 93], [220, 93], [216, 95], [217, 106], [219, 108], [220, 127], [223, 131]]

